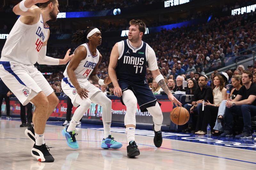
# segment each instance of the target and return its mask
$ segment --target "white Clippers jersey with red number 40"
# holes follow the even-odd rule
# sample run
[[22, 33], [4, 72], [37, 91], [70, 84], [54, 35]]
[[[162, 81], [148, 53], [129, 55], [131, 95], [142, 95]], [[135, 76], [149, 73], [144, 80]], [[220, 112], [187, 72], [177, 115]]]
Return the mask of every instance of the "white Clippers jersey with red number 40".
[[35, 64], [48, 31], [49, 26], [44, 25], [42, 14], [34, 25], [24, 24], [18, 18], [4, 44], [2, 56], [24, 65]]

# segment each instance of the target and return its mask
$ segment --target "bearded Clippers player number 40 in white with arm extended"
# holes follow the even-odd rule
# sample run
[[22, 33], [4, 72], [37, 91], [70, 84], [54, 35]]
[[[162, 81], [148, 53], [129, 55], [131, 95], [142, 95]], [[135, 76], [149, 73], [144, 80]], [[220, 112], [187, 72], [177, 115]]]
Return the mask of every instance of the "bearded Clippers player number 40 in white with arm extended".
[[[39, 7], [35, 4], [40, 3]], [[40, 162], [53, 162], [54, 158], [44, 142], [46, 120], [59, 103], [53, 89], [34, 64], [66, 64], [73, 55], [69, 51], [64, 59], [46, 56], [49, 38], [48, 20], [56, 20], [57, 0], [23, 0], [13, 8], [20, 15], [4, 44], [0, 59], [0, 77], [25, 106], [28, 102], [36, 106], [33, 113], [34, 127], [25, 134], [35, 144], [31, 154]]]

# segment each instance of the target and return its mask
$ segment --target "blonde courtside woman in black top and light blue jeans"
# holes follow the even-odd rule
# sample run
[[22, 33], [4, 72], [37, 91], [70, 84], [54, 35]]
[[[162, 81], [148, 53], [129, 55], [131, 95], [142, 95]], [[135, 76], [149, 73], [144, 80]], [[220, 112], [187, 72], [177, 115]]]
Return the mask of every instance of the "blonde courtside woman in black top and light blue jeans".
[[[233, 100], [236, 98], [236, 95], [238, 94], [239, 89], [243, 85], [241, 76], [234, 75], [231, 78], [231, 84], [233, 85], [233, 89], [231, 90], [230, 94], [227, 94], [227, 100]], [[212, 132], [212, 135], [214, 136], [219, 136], [223, 132], [223, 120], [225, 116], [225, 110], [226, 110], [225, 104], [227, 100], [223, 100], [220, 104], [220, 107], [218, 110], [218, 117]]]

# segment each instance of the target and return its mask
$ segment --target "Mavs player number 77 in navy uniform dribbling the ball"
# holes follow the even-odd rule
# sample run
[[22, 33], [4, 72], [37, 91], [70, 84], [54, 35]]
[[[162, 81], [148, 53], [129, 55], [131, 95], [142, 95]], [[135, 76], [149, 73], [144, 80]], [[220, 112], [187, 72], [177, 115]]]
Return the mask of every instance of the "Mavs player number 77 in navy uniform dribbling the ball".
[[126, 106], [124, 116], [125, 131], [127, 134], [127, 156], [135, 157], [140, 151], [135, 142], [136, 109], [137, 102], [141, 112], [148, 111], [153, 116], [153, 130], [155, 132], [154, 144], [162, 145], [161, 125], [163, 114], [156, 97], [146, 83], [146, 63], [158, 85], [176, 105], [181, 103], [172, 95], [158, 70], [156, 55], [149, 45], [142, 41], [146, 25], [141, 20], [130, 21], [128, 39], [115, 44], [110, 55], [108, 66], [109, 77], [115, 87], [114, 94], [121, 97], [121, 102]]

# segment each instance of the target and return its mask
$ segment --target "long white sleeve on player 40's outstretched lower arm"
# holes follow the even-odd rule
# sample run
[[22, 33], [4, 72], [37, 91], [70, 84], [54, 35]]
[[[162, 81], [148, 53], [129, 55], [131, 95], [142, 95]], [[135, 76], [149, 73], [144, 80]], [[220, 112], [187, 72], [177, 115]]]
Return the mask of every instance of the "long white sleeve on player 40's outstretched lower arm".
[[58, 58], [52, 58], [52, 57], [46, 56], [46, 46], [43, 46], [39, 51], [39, 54], [37, 57], [37, 63], [46, 64], [46, 65], [59, 65], [60, 60]]

